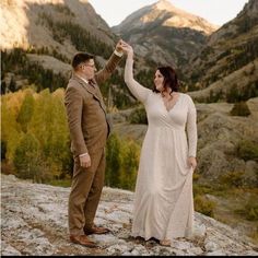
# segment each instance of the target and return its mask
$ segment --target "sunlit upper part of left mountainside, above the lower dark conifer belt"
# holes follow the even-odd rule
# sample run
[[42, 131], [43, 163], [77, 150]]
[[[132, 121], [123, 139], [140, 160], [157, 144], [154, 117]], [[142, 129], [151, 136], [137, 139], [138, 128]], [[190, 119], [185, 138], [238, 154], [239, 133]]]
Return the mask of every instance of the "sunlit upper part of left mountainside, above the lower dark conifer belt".
[[71, 58], [77, 50], [92, 51], [94, 43], [114, 46], [115, 35], [87, 0], [3, 0], [0, 4], [1, 49], [49, 48]]

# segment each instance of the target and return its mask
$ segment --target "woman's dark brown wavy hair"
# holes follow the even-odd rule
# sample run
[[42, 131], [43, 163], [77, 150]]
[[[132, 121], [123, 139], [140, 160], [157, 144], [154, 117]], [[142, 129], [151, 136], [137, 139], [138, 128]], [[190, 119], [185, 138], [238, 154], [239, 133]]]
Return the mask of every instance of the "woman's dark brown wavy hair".
[[[156, 70], [161, 72], [161, 74], [164, 77], [164, 87], [171, 87], [172, 92], [178, 92], [179, 90], [179, 82], [177, 80], [176, 71], [167, 66], [167, 67], [159, 67]], [[155, 85], [153, 87], [153, 92], [160, 93], [160, 91], [156, 90]]]

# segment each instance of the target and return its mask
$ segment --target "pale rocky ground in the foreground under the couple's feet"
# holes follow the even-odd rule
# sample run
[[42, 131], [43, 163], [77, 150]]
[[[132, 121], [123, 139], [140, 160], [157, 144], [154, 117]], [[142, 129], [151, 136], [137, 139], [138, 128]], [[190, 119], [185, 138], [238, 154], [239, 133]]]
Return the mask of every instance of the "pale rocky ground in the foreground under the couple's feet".
[[133, 192], [104, 188], [96, 223], [112, 230], [92, 235], [97, 248], [68, 241], [69, 188], [52, 187], [1, 175], [2, 256], [257, 256], [257, 246], [239, 232], [195, 213], [195, 235], [175, 239], [171, 247], [130, 237]]

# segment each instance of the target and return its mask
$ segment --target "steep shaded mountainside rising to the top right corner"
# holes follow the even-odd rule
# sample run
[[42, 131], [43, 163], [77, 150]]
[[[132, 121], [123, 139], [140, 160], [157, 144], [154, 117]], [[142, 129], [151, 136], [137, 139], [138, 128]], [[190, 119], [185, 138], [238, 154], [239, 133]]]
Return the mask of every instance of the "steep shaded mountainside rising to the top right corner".
[[[258, 58], [257, 46], [258, 1], [249, 0], [235, 19], [208, 37], [207, 44], [183, 68], [184, 74], [195, 90], [204, 89], [245, 66], [251, 66]], [[243, 77], [244, 81], [248, 79], [248, 74]], [[238, 84], [242, 81], [239, 77]], [[250, 86], [251, 83], [247, 83], [246, 86]]]

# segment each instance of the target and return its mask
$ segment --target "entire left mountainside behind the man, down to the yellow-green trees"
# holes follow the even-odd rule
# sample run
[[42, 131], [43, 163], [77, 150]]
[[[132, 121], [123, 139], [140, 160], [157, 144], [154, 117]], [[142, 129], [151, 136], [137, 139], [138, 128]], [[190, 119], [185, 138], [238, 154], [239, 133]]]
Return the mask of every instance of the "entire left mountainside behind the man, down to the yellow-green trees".
[[93, 54], [102, 67], [118, 40], [87, 0], [3, 0], [0, 23], [2, 94], [64, 87], [75, 52]]

